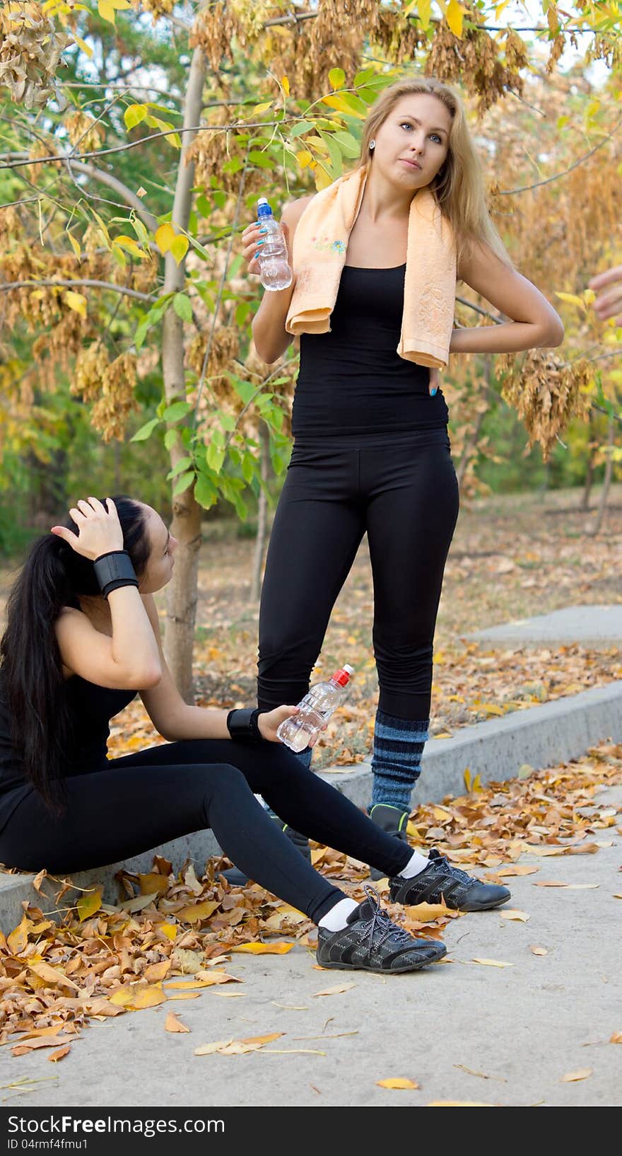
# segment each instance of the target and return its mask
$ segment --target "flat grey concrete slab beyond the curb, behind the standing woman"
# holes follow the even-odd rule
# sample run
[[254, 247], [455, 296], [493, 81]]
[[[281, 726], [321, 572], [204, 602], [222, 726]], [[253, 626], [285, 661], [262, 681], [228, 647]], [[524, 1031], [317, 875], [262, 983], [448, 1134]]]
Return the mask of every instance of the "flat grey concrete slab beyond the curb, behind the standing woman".
[[501, 627], [478, 630], [471, 638], [490, 646], [602, 646], [622, 645], [620, 606], [567, 606], [563, 610], [518, 618]]

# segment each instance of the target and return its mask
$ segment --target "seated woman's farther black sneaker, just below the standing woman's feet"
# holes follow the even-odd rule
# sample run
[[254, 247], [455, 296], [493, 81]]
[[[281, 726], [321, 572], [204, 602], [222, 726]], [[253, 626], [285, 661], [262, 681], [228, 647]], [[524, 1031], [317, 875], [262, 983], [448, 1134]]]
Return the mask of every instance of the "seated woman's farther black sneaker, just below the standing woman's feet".
[[454, 911], [488, 911], [507, 903], [510, 892], [507, 887], [496, 883], [480, 883], [450, 862], [433, 849], [429, 853], [429, 867], [426, 867], [414, 879], [403, 879], [396, 875], [389, 880], [391, 903], [403, 903], [415, 906], [418, 903], [442, 903]]

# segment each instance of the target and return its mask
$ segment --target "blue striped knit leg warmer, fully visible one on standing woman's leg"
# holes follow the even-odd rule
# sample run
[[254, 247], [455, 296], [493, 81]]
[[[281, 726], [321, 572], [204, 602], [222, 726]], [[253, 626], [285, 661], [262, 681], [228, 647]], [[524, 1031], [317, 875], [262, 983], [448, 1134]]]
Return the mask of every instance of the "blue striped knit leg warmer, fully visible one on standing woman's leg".
[[372, 770], [372, 806], [379, 802], [411, 809], [411, 794], [421, 773], [421, 755], [428, 738], [429, 719], [396, 719], [376, 712]]

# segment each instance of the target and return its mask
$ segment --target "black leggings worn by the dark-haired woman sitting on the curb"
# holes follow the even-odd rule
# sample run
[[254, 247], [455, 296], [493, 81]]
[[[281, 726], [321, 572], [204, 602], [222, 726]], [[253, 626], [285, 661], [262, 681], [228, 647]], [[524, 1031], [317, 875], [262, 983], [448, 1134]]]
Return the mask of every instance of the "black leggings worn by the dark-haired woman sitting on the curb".
[[17, 805], [0, 832], [3, 864], [65, 874], [211, 827], [241, 870], [319, 922], [343, 892], [314, 870], [255, 793], [295, 830], [388, 875], [397, 875], [412, 854], [279, 743], [173, 742], [111, 759], [66, 785], [60, 818], [35, 791]]

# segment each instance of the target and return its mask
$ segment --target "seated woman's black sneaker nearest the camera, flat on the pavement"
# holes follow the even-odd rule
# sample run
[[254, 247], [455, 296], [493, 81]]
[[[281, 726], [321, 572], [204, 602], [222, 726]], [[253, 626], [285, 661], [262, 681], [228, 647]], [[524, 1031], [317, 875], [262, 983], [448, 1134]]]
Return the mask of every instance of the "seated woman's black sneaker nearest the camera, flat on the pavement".
[[410, 932], [398, 927], [380, 905], [373, 887], [347, 917], [347, 927], [340, 932], [317, 929], [316, 959], [322, 968], [344, 968], [358, 971], [419, 971], [447, 954], [444, 943], [436, 940], [415, 940]]

